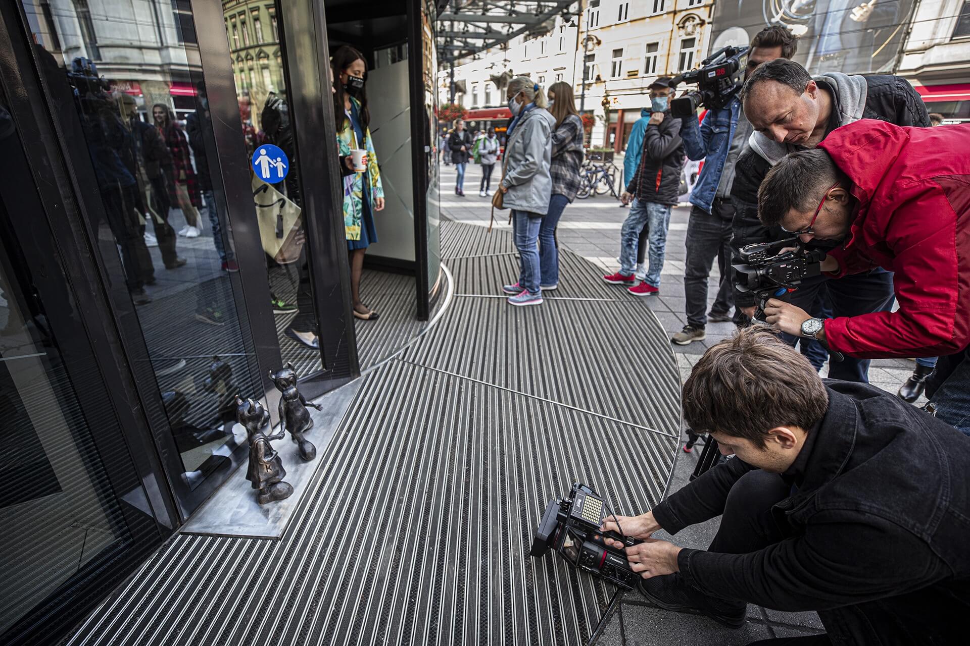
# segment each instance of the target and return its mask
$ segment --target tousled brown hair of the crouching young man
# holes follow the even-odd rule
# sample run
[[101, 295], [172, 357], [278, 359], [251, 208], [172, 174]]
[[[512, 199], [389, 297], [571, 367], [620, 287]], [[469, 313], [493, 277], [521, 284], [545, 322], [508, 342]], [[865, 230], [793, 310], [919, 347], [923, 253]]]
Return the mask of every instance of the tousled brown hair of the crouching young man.
[[811, 430], [828, 409], [828, 393], [807, 358], [771, 330], [752, 326], [697, 361], [683, 406], [695, 432], [721, 432], [763, 448], [777, 426]]

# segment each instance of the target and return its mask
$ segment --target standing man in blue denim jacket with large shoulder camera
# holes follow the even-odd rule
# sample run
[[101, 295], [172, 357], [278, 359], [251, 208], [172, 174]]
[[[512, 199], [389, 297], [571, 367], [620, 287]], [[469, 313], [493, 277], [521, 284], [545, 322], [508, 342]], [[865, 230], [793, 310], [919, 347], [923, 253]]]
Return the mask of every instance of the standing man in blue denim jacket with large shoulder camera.
[[[751, 41], [745, 77], [761, 63], [775, 58], [792, 58], [796, 48], [795, 37], [788, 29], [778, 25], [762, 29]], [[708, 320], [712, 323], [731, 320], [734, 297], [730, 284], [730, 240], [734, 207], [730, 189], [734, 182], [734, 164], [747, 144], [752, 128], [744, 118], [740, 100], [734, 98], [726, 108], [709, 110], [699, 126], [695, 115], [685, 117], [680, 133], [687, 156], [705, 160], [691, 193], [694, 207], [687, 225], [684, 269], [687, 324], [671, 339], [686, 346], [704, 338]], [[721, 283], [711, 313], [705, 316], [707, 277], [715, 258], [721, 270]]]

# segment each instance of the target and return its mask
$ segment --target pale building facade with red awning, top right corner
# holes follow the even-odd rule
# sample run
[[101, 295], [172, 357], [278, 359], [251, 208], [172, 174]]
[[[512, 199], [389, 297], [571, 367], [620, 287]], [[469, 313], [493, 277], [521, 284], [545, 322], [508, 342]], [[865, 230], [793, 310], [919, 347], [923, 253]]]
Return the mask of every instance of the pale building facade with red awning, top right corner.
[[920, 0], [896, 73], [945, 123], [970, 122], [970, 2]]

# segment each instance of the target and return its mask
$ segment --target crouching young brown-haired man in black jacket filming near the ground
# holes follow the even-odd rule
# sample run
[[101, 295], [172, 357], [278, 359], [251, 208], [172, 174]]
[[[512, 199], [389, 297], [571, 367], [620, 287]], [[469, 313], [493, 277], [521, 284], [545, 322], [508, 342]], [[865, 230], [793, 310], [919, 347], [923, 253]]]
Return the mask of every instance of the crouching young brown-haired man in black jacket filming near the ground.
[[[749, 602], [816, 610], [827, 640], [812, 643], [957, 643], [970, 610], [970, 438], [874, 386], [823, 381], [760, 326], [704, 354], [683, 406], [735, 457], [617, 519], [644, 540], [627, 555], [647, 599], [732, 628]], [[651, 538], [720, 514], [707, 551]]]

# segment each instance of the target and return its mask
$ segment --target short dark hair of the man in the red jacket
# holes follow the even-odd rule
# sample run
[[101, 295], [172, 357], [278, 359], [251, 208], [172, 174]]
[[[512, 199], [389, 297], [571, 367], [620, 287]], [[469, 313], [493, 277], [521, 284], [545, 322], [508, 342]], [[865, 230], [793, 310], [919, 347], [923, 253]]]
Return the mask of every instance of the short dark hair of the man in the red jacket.
[[824, 148], [789, 153], [761, 180], [758, 218], [765, 227], [779, 225], [792, 208], [813, 210], [829, 186], [847, 180]]

